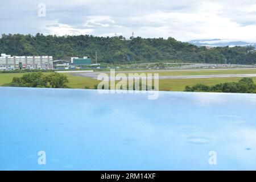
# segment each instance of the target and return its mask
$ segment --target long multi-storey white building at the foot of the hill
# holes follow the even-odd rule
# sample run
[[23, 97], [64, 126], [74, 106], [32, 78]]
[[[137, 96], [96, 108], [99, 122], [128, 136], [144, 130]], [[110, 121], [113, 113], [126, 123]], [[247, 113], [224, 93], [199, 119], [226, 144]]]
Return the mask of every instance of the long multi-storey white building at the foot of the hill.
[[0, 70], [11, 69], [53, 69], [52, 56], [11, 56], [0, 57]]

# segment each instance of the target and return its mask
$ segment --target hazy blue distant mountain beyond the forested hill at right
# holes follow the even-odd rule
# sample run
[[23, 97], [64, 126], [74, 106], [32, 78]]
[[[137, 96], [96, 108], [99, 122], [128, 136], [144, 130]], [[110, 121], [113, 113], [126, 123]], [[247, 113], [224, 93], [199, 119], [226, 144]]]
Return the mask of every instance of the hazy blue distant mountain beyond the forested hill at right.
[[197, 39], [197, 40], [191, 40], [188, 43], [194, 44], [195, 46], [213, 46], [213, 47], [254, 46], [256, 48], [256, 43], [232, 41], [227, 39]]

